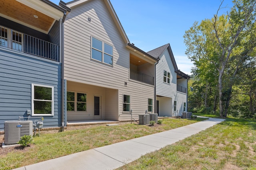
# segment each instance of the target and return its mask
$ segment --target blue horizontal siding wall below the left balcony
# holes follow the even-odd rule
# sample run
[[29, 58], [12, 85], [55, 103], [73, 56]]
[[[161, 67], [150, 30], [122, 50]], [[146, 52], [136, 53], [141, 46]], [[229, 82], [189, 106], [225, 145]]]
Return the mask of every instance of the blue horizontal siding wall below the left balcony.
[[44, 127], [60, 126], [60, 73], [60, 63], [0, 48], [0, 131], [4, 121], [27, 117], [32, 83], [54, 86], [54, 116], [44, 116], [43, 122]]

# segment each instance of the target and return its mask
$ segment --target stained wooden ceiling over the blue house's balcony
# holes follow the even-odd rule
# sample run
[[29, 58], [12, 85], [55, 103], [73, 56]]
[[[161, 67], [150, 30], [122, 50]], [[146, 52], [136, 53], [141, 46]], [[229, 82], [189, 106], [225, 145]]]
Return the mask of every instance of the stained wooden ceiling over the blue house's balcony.
[[[8, 20], [12, 20], [14, 22], [25, 25], [27, 27], [36, 29], [43, 33], [48, 33], [54, 21], [56, 20], [56, 18], [54, 19], [46, 14], [43, 14], [39, 10], [35, 10], [36, 7], [38, 9], [41, 8], [41, 7], [38, 7], [39, 6], [38, 4], [33, 4], [33, 3], [36, 3], [36, 1], [34, 2], [33, 1], [29, 2], [26, 0], [24, 2], [22, 1], [18, 2], [17, 0], [0, 0], [0, 1], [1, 1], [0, 16], [7, 18]], [[27, 6], [27, 5], [30, 5], [30, 6]], [[44, 8], [49, 8], [48, 12], [52, 10], [50, 9], [50, 6], [48, 6], [47, 4], [41, 4], [41, 5], [44, 5]], [[41, 11], [44, 11], [44, 9], [42, 9]], [[47, 13], [47, 10], [45, 10], [45, 13]], [[34, 15], [38, 16], [38, 18], [35, 18]]]

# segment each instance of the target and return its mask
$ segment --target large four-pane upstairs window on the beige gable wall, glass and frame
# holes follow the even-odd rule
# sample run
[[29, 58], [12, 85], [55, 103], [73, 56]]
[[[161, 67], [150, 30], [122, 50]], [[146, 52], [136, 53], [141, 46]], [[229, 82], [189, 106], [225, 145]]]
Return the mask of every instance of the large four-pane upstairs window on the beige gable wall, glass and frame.
[[113, 47], [92, 37], [92, 59], [113, 65]]

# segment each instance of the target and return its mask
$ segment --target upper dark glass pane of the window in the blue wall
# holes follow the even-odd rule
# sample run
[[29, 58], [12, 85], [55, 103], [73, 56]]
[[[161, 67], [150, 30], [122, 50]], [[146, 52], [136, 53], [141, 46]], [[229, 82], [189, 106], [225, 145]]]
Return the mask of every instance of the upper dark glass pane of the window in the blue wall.
[[34, 86], [34, 99], [52, 100], [52, 88]]

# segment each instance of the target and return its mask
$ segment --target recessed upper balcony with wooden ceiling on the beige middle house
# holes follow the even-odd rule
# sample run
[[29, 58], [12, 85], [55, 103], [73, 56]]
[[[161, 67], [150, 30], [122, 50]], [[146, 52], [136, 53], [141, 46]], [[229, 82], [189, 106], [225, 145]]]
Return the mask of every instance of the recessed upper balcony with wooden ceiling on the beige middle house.
[[130, 43], [127, 47], [130, 49], [130, 79], [154, 85], [155, 63], [158, 60]]

